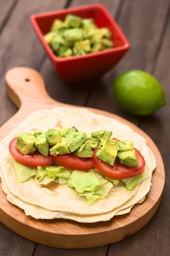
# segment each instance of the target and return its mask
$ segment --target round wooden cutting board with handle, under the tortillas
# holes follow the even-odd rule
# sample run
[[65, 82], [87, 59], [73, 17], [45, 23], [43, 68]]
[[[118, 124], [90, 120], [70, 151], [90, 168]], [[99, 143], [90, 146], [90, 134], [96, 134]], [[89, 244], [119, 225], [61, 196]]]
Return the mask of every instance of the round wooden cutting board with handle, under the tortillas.
[[[45, 90], [45, 84], [40, 73], [31, 68], [16, 67], [9, 70], [6, 73], [6, 90], [19, 111], [0, 128], [0, 140], [19, 125], [26, 116], [36, 110], [57, 106], [74, 107], [51, 99]], [[3, 193], [0, 186], [0, 221], [20, 236], [52, 247], [96, 247], [132, 235], [147, 224], [158, 209], [164, 187], [165, 173], [161, 154], [156, 145], [147, 134], [127, 120], [105, 111], [88, 109], [129, 125], [147, 140], [147, 145], [152, 149], [157, 163], [153, 172], [150, 192], [144, 202], [137, 204], [128, 214], [115, 216], [110, 221], [81, 224], [63, 219], [35, 220], [28, 217], [23, 210], [6, 200], [6, 194]]]

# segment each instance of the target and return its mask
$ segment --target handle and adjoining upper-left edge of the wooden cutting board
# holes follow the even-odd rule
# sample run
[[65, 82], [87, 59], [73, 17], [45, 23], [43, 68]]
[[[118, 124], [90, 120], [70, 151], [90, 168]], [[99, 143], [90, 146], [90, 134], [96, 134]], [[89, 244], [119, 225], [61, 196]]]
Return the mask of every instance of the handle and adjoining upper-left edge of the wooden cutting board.
[[42, 76], [32, 68], [14, 67], [6, 73], [5, 81], [6, 92], [19, 111], [0, 128], [0, 141], [32, 112], [65, 105], [48, 95]]

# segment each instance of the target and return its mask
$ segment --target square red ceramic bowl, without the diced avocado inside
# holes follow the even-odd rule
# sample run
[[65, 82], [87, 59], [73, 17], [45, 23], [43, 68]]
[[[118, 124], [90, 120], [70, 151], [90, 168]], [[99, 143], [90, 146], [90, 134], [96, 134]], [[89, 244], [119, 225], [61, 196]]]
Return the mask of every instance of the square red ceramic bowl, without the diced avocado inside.
[[[89, 53], [87, 55], [57, 58], [45, 42], [43, 35], [50, 31], [51, 25], [56, 18], [64, 20], [65, 16], [69, 13], [82, 18], [94, 18], [98, 27], [108, 27], [112, 32], [114, 48]], [[77, 82], [102, 76], [110, 70], [130, 48], [130, 44], [116, 21], [101, 4], [79, 6], [32, 15], [31, 23], [59, 76], [66, 82]]]

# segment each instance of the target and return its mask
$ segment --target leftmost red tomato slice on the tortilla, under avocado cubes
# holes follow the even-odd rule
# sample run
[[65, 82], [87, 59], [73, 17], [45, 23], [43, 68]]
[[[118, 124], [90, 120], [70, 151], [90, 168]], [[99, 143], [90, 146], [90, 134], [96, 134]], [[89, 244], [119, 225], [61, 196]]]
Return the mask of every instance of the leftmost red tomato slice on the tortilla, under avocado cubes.
[[36, 151], [34, 154], [30, 156], [28, 155], [24, 156], [17, 150], [16, 142], [17, 142], [17, 137], [11, 140], [11, 142], [9, 143], [9, 151], [18, 163], [21, 163], [25, 166], [37, 167], [37, 166], [46, 166], [53, 162], [51, 160], [51, 157], [45, 157], [39, 151]]

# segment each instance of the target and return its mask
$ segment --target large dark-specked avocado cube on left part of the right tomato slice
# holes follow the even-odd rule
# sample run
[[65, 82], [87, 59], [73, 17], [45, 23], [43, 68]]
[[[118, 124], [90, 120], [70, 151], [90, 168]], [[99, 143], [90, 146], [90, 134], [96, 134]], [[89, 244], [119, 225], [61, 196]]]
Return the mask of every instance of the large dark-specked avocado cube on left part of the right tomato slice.
[[96, 156], [102, 159], [105, 163], [113, 166], [119, 150], [119, 143], [116, 140], [111, 140], [105, 137], [99, 145]]

